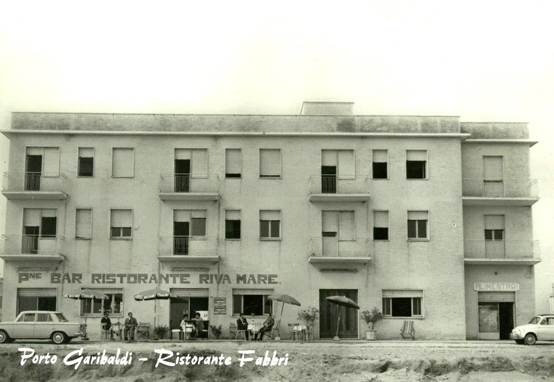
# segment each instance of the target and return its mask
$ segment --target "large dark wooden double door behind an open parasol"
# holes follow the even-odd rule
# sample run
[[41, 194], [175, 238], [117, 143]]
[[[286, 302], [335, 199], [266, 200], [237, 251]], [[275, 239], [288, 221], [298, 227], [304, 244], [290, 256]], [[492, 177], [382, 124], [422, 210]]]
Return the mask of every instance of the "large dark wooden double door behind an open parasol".
[[340, 313], [339, 337], [358, 338], [357, 309], [332, 304], [326, 300], [332, 295], [345, 295], [350, 300], [358, 302], [357, 289], [319, 289], [319, 311], [321, 312], [319, 316], [319, 337], [333, 338], [337, 335], [337, 321]]

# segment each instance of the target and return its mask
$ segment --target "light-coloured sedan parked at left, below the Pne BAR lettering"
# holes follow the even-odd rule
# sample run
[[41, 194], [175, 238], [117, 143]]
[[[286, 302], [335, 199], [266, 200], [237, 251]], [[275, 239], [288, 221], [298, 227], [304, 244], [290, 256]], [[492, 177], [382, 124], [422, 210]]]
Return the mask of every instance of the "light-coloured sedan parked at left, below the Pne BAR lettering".
[[59, 345], [83, 335], [84, 327], [78, 322], [69, 322], [61, 311], [22, 311], [14, 322], [0, 322], [0, 343], [51, 339]]

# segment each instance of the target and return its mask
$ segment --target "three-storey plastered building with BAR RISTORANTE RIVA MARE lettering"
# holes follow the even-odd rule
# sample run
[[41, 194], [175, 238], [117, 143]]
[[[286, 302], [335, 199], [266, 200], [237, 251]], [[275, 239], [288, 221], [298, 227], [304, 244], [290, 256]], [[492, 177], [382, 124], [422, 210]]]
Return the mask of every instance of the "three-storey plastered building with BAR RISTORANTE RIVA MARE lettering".
[[[339, 294], [382, 309], [378, 338], [404, 320], [417, 338], [506, 338], [535, 313], [526, 124], [351, 111], [12, 113], [3, 318], [60, 309], [94, 334], [104, 310], [151, 331], [207, 311], [225, 333], [240, 312], [279, 318], [267, 296], [287, 293], [332, 338]], [[84, 287], [109, 300], [63, 297]], [[179, 297], [134, 300], [154, 287]], [[339, 336], [364, 338], [340, 309]]]

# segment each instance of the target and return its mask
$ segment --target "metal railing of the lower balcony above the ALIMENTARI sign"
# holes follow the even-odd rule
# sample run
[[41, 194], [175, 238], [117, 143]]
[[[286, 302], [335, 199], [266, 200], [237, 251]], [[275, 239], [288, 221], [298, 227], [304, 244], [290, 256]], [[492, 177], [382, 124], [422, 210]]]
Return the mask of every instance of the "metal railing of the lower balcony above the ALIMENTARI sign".
[[533, 259], [540, 257], [538, 240], [464, 240], [464, 256], [472, 259]]

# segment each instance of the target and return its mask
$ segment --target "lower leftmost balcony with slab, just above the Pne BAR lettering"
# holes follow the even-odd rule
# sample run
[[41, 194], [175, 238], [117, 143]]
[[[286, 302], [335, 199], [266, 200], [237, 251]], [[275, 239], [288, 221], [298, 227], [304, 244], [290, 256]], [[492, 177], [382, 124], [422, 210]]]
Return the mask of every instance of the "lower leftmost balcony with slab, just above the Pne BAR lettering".
[[63, 236], [2, 235], [0, 258], [6, 261], [62, 262]]

